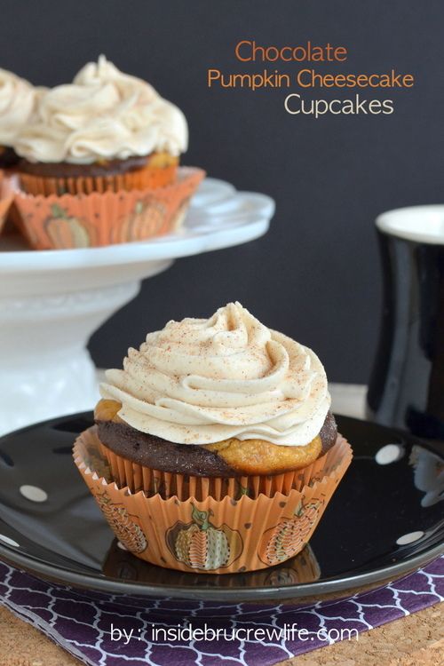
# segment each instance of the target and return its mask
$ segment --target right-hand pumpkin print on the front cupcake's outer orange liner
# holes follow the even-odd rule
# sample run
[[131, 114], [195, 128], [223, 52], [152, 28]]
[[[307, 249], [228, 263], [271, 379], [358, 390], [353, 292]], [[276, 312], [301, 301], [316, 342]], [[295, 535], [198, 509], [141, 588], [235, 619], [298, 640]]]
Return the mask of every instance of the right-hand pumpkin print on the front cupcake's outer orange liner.
[[307, 504], [301, 500], [291, 518], [282, 518], [278, 525], [267, 529], [259, 545], [259, 559], [271, 567], [302, 551], [321, 516], [323, 503], [314, 498]]

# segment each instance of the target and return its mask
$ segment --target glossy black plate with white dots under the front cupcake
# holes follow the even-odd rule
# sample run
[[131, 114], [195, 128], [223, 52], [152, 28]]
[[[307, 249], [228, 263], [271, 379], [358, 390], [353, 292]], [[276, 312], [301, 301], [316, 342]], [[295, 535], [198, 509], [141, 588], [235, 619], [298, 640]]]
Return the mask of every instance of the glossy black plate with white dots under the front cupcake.
[[[0, 440], [0, 557], [90, 590], [236, 601], [345, 590], [431, 560], [444, 543], [441, 445], [353, 418], [337, 421], [353, 446], [353, 463], [310, 547], [279, 567], [183, 574], [122, 551], [71, 456], [76, 434], [92, 423], [90, 413], [52, 419]], [[389, 458], [394, 459], [387, 463]], [[47, 499], [37, 503], [23, 496], [28, 485], [43, 489]], [[405, 543], [412, 533], [415, 540]]]

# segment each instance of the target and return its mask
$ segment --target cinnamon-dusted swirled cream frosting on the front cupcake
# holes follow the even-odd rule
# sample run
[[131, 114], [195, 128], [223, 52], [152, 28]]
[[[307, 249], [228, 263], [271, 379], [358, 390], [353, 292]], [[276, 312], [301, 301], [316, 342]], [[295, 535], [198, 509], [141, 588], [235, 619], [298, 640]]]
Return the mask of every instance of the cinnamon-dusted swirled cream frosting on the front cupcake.
[[240, 303], [208, 320], [170, 321], [106, 377], [101, 395], [122, 403], [124, 422], [180, 444], [236, 437], [304, 446], [330, 405], [316, 354]]

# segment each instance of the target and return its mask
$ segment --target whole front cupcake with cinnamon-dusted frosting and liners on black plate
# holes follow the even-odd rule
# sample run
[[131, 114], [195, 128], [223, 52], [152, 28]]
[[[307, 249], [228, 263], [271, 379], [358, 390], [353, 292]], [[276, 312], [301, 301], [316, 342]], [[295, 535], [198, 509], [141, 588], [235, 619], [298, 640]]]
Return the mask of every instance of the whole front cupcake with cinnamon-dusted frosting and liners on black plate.
[[304, 548], [351, 461], [311, 349], [230, 303], [148, 334], [106, 377], [75, 462], [128, 550], [233, 573]]

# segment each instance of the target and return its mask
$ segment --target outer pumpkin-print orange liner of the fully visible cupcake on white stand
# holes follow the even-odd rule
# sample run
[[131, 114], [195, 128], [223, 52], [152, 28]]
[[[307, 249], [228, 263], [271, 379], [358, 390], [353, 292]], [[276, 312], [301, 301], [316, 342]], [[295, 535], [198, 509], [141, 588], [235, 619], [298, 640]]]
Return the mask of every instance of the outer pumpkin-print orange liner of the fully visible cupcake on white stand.
[[26, 194], [16, 189], [20, 230], [36, 250], [92, 248], [169, 234], [185, 218], [205, 171], [180, 167], [175, 182], [157, 189], [92, 194]]

